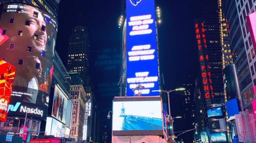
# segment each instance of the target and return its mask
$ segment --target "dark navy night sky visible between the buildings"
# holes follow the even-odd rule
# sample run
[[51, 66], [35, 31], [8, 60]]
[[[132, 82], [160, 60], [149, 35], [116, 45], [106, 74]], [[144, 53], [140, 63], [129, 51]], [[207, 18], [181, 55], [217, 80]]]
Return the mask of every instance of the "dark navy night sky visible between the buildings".
[[[158, 39], [160, 52], [160, 65], [164, 75], [164, 89], [175, 89], [182, 87], [185, 83], [193, 83], [196, 76], [197, 57], [194, 35], [194, 18], [197, 17], [198, 0], [156, 0], [156, 6], [161, 9], [162, 23], [158, 25]], [[102, 79], [106, 80], [103, 71], [95, 67], [97, 55], [102, 54], [105, 48], [117, 49], [120, 47], [120, 29], [118, 29], [118, 18], [121, 15], [120, 0], [62, 0], [59, 5], [58, 35], [56, 50], [64, 64], [67, 60], [68, 40], [74, 26], [83, 25], [88, 28], [91, 39], [90, 74], [94, 89]], [[112, 56], [109, 56], [112, 57]], [[114, 58], [114, 57], [113, 57]], [[109, 72], [109, 71], [108, 71]], [[111, 79], [119, 79], [119, 67], [113, 71]], [[99, 76], [100, 75], [100, 76]], [[106, 75], [105, 75], [106, 76]], [[104, 109], [102, 122], [106, 120], [107, 110], [112, 108], [114, 96], [96, 95], [100, 109]], [[182, 95], [171, 94], [172, 116], [179, 116], [182, 103]], [[103, 100], [102, 100], [103, 99]], [[182, 121], [174, 124], [175, 130], [179, 128]], [[109, 129], [111, 130], [111, 129]], [[189, 134], [187, 134], [189, 135]]]

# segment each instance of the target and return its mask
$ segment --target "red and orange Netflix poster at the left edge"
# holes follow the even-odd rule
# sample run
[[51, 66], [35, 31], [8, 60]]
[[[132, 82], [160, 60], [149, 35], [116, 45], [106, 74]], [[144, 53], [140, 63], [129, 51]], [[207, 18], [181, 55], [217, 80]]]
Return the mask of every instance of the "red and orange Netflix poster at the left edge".
[[5, 122], [11, 98], [15, 67], [0, 59], [0, 121]]

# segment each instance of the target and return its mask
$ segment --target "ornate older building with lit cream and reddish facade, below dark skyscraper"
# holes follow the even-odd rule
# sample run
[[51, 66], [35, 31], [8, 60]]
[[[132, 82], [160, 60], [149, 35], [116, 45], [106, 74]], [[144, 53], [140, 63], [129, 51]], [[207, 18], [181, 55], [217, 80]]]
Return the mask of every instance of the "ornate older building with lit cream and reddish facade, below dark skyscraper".
[[73, 104], [70, 138], [75, 138], [76, 141], [83, 141], [85, 104], [88, 102], [84, 87], [81, 84], [71, 85], [69, 99], [72, 100]]

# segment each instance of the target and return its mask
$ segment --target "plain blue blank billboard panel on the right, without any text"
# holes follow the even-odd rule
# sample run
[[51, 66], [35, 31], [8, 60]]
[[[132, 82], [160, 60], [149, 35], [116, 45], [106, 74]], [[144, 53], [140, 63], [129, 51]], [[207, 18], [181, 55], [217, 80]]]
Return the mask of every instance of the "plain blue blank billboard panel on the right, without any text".
[[237, 98], [226, 102], [226, 110], [228, 118], [234, 116], [235, 114], [239, 114]]

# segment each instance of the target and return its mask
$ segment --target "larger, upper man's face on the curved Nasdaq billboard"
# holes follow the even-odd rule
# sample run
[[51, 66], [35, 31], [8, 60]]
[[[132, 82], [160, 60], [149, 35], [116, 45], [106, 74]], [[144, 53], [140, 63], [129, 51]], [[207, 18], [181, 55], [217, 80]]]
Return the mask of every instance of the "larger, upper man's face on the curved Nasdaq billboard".
[[[25, 11], [28, 11], [28, 14], [26, 15], [25, 20], [30, 20], [30, 25], [25, 25], [25, 31], [27, 33], [24, 33], [24, 36], [28, 36], [28, 40], [31, 41], [31, 46], [33, 46], [33, 49], [37, 50], [38, 52], [42, 52], [42, 50], [45, 51], [46, 41], [47, 41], [47, 34], [45, 29], [45, 21], [42, 14], [36, 10], [35, 8], [31, 6], [26, 6], [29, 9], [25, 9]], [[33, 15], [34, 12], [38, 13], [37, 17], [36, 15]], [[36, 38], [35, 34], [38, 36]]]

